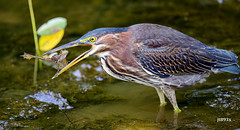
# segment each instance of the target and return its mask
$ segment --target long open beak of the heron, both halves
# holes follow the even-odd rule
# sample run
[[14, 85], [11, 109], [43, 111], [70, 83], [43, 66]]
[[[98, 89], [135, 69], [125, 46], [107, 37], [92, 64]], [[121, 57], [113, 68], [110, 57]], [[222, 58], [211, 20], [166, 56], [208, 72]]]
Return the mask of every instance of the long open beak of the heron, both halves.
[[[43, 54], [44, 55], [47, 55], [47, 54], [50, 54], [52, 52], [56, 52], [56, 51], [59, 51], [59, 50], [63, 50], [63, 49], [66, 49], [66, 48], [71, 48], [71, 47], [76, 47], [76, 46], [91, 46], [91, 44], [88, 44], [88, 43], [82, 43], [82, 42], [79, 42], [78, 41], [73, 41], [73, 42], [70, 42], [70, 43], [67, 43], [65, 45], [62, 45], [60, 47], [57, 47], [55, 49], [52, 49], [46, 53]], [[87, 58], [89, 55], [90, 55], [90, 52], [92, 51], [92, 48], [86, 52], [84, 52], [83, 54], [81, 54], [80, 56], [78, 56], [77, 58], [75, 58], [73, 61], [71, 61], [68, 65], [66, 65], [62, 70], [58, 71], [53, 77], [52, 79], [58, 77], [60, 74], [62, 74], [64, 71], [66, 71], [67, 69], [69, 69], [70, 67], [72, 67], [73, 65], [77, 64], [79, 61]]]

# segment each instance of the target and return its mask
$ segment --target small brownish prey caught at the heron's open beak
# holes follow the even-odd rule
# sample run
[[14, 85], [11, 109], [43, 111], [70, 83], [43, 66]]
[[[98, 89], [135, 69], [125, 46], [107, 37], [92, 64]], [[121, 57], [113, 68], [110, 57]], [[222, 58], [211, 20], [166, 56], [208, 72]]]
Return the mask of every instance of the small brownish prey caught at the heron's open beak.
[[67, 50], [61, 50], [60, 54], [54, 52], [54, 53], [50, 54], [47, 58], [40, 57], [40, 56], [34, 56], [34, 55], [31, 55], [31, 54], [28, 54], [25, 52], [21, 56], [27, 60], [30, 60], [32, 58], [37, 58], [37, 59], [41, 59], [43, 61], [53, 62], [56, 64], [57, 70], [59, 70], [59, 66], [64, 67], [67, 65], [67, 60], [66, 60], [67, 55], [68, 55]]

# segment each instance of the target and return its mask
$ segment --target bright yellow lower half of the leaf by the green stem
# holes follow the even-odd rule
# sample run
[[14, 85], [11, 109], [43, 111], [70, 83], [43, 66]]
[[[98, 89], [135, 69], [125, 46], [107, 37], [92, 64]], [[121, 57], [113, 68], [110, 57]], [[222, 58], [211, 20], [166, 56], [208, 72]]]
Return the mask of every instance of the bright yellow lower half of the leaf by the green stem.
[[64, 35], [64, 29], [54, 33], [52, 35], [40, 36], [39, 48], [41, 51], [49, 51], [54, 48], [62, 39]]

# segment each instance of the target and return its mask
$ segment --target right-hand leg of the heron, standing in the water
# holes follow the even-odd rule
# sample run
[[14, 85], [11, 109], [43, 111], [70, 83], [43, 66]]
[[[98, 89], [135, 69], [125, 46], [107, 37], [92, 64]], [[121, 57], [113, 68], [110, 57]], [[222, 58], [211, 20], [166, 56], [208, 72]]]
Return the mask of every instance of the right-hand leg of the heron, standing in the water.
[[162, 91], [164, 92], [166, 97], [169, 99], [169, 101], [173, 105], [174, 111], [177, 113], [181, 112], [181, 110], [178, 108], [178, 105], [177, 105], [175, 90], [169, 86], [163, 86]]

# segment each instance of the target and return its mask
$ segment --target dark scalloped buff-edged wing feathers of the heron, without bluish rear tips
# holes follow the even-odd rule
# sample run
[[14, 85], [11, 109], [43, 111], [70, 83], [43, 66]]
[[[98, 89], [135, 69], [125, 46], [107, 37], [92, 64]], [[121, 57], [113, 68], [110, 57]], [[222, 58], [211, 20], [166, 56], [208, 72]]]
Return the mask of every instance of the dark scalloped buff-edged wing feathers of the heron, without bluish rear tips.
[[145, 70], [160, 77], [168, 77], [170, 75], [199, 74], [210, 71], [216, 61], [199, 52], [201, 51], [194, 51], [191, 48], [179, 50], [171, 46], [165, 46], [153, 49], [144, 45], [143, 48], [138, 48], [135, 56]]

